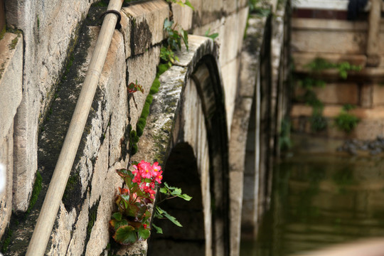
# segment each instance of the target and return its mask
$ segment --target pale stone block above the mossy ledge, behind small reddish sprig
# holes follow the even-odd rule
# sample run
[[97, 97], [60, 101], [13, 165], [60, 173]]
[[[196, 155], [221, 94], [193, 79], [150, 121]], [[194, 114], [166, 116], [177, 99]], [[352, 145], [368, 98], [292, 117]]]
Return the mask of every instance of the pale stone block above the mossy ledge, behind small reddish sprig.
[[137, 120], [142, 114], [146, 96], [156, 78], [156, 66], [159, 64], [159, 59], [160, 48], [157, 46], [150, 48], [142, 55], [127, 60], [128, 84], [137, 80], [137, 83], [144, 88], [144, 93], [137, 91], [129, 97], [130, 124], [134, 130], [136, 130]]

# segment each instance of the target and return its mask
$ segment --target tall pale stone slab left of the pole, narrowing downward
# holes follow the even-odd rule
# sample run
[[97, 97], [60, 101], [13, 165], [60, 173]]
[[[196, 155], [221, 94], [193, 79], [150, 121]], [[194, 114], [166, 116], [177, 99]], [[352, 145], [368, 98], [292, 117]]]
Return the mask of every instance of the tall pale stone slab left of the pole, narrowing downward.
[[24, 177], [18, 186], [25, 192], [16, 192], [16, 211], [24, 211], [28, 206], [37, 169], [38, 126], [53, 99], [70, 42], [89, 6], [87, 0], [6, 2], [7, 24], [21, 29], [25, 42], [23, 100], [14, 124], [14, 140], [18, 145], [14, 152], [14, 172]]

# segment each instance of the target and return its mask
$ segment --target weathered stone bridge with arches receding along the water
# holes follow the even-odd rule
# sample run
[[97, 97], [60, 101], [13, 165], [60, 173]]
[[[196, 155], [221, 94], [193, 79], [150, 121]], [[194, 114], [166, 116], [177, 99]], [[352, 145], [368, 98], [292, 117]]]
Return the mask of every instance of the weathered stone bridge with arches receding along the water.
[[[46, 255], [238, 255], [240, 230], [255, 233], [289, 103], [289, 2], [259, 3], [256, 14], [244, 0], [191, 0], [194, 9], [169, 2], [120, 11]], [[1, 250], [24, 255], [107, 7], [0, 4]], [[157, 75], [166, 18], [188, 31], [189, 48]], [[144, 93], [127, 92], [135, 81]], [[164, 181], [193, 200], [164, 206], [183, 228], [164, 224], [165, 235], [117, 246], [108, 228], [122, 186], [115, 170], [142, 159], [159, 161]]]

